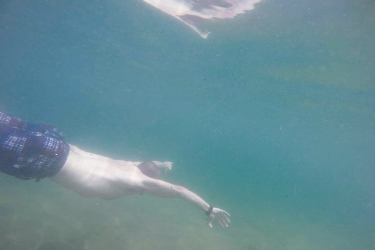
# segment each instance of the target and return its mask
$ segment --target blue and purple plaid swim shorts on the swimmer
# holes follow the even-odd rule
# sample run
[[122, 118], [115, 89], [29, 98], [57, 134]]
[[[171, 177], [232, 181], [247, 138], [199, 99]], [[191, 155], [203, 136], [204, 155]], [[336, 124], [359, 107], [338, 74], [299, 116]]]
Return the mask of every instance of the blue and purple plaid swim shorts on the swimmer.
[[0, 171], [22, 180], [57, 174], [69, 144], [55, 128], [31, 124], [0, 112]]

